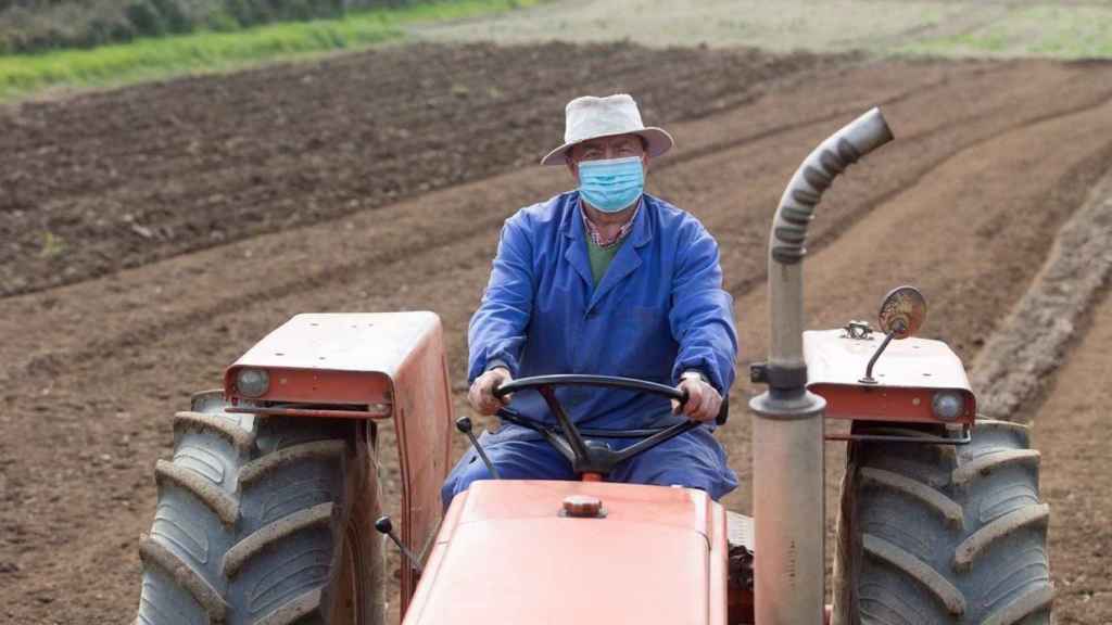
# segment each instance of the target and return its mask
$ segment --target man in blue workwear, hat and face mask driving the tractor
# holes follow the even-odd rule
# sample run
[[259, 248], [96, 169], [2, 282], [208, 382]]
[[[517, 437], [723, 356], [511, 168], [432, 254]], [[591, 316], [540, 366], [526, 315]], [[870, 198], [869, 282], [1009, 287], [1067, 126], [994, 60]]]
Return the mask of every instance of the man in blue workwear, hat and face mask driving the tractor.
[[[540, 162], [566, 166], [577, 189], [506, 220], [468, 331], [468, 401], [494, 415], [503, 406], [495, 388], [548, 374], [674, 385], [688, 397], [679, 408], [661, 396], [625, 390], [560, 387], [556, 394], [585, 428], [706, 421], [619, 464], [607, 479], [682, 485], [717, 499], [737, 486], [711, 434], [734, 380], [737, 351], [717, 244], [693, 216], [644, 192], [649, 159], [673, 140], [659, 128], [645, 128], [633, 98], [577, 98], [566, 113], [565, 143]], [[518, 393], [512, 404], [525, 416], [555, 423], [538, 393]], [[620, 448], [636, 440], [603, 442]], [[576, 478], [568, 460], [530, 429], [505, 423], [480, 443], [503, 478]], [[489, 478], [469, 450], [444, 485], [445, 506], [471, 482]]]

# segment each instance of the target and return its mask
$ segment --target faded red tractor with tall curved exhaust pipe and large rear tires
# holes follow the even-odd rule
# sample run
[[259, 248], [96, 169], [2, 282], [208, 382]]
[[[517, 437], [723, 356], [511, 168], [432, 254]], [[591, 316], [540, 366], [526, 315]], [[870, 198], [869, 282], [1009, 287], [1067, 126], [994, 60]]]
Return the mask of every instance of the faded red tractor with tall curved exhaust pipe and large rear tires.
[[[749, 403], [753, 518], [701, 490], [607, 482], [619, 463], [699, 426], [580, 429], [564, 389], [684, 400], [653, 381], [586, 375], [497, 390], [543, 396], [548, 418], [512, 405], [499, 417], [543, 435], [582, 479], [477, 482], [444, 509], [453, 429], [488, 460], [469, 419], [454, 420], [438, 317], [298, 315], [176, 416], [139, 546], [137, 622], [377, 625], [396, 573], [406, 625], [1049, 623], [1039, 453], [1023, 426], [977, 419], [959, 357], [914, 336], [922, 295], [893, 289], [875, 328], [803, 331], [815, 208], [838, 173], [891, 139], [877, 109], [857, 118], [811, 152], [776, 211], [770, 355], [749, 371], [767, 386]], [[380, 505], [387, 420], [397, 519]], [[599, 438], [636, 442], [614, 449]], [[827, 606], [831, 440], [846, 444], [847, 460]], [[387, 538], [397, 572], [385, 565]]]

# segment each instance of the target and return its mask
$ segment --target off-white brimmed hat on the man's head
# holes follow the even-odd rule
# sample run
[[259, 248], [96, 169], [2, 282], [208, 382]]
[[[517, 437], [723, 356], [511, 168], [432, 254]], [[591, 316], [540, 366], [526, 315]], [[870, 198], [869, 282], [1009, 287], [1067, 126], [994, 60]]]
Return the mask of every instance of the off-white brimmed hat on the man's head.
[[564, 165], [573, 146], [599, 137], [637, 135], [645, 139], [651, 157], [658, 157], [675, 145], [663, 128], [645, 127], [637, 102], [628, 93], [576, 98], [567, 103], [565, 113], [564, 145], [545, 155], [540, 165]]

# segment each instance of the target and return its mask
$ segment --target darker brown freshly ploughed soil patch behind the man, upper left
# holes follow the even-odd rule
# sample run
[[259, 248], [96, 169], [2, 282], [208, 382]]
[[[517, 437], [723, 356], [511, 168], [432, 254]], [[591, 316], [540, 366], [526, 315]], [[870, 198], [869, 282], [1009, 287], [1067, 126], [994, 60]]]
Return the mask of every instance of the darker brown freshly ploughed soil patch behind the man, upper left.
[[580, 91], [659, 122], [823, 58], [628, 44], [386, 48], [0, 116], [0, 296], [37, 291], [530, 163]]

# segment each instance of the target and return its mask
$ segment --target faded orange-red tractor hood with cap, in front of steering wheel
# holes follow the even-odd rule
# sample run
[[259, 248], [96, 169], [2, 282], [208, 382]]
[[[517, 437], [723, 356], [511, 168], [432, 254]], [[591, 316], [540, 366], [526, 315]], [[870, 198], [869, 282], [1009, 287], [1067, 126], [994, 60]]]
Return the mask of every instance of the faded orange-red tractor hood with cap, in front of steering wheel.
[[[604, 515], [562, 516], [572, 495]], [[725, 623], [723, 508], [686, 488], [476, 482], [456, 497], [406, 625]]]

